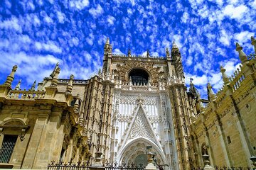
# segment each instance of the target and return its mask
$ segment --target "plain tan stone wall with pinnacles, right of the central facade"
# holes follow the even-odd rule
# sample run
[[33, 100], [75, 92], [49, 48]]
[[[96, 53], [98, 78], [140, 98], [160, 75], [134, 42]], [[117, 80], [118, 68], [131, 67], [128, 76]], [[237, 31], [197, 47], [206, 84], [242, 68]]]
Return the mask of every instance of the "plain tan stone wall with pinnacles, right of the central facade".
[[197, 146], [197, 164], [203, 166], [202, 146], [206, 144], [214, 166], [252, 166], [250, 157], [256, 154], [255, 63], [255, 57], [247, 59], [230, 79], [221, 68], [223, 88], [211, 94], [206, 108], [192, 115], [191, 137]]

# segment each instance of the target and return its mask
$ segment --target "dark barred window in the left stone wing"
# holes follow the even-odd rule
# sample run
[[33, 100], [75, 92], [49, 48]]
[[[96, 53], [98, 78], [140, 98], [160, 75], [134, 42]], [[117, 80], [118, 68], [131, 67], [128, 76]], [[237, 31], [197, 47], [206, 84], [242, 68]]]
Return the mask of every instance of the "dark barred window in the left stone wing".
[[14, 152], [14, 147], [18, 135], [4, 135], [4, 140], [0, 149], [0, 162], [9, 163], [11, 154]]

